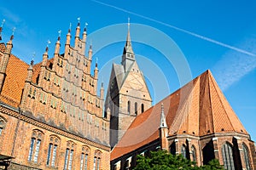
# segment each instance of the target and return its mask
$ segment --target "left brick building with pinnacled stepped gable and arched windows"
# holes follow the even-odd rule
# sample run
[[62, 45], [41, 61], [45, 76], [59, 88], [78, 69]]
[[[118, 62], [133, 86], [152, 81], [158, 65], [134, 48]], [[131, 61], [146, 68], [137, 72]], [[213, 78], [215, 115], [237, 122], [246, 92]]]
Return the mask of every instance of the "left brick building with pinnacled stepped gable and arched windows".
[[86, 28], [79, 35], [78, 23], [74, 46], [69, 30], [64, 54], [58, 37], [53, 58], [47, 47], [36, 65], [11, 54], [13, 37], [6, 47], [1, 43], [0, 154], [14, 157], [10, 169], [110, 168], [104, 89], [98, 96], [97, 64], [90, 73], [91, 46], [84, 55]]

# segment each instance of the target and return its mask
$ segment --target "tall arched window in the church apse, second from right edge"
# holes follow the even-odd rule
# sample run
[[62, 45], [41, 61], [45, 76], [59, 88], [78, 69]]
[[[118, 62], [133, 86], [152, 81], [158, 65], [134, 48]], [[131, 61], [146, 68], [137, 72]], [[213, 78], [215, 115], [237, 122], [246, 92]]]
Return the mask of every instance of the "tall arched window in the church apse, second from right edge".
[[228, 143], [225, 143], [222, 146], [222, 158], [225, 169], [235, 169], [232, 146]]

